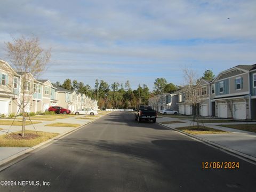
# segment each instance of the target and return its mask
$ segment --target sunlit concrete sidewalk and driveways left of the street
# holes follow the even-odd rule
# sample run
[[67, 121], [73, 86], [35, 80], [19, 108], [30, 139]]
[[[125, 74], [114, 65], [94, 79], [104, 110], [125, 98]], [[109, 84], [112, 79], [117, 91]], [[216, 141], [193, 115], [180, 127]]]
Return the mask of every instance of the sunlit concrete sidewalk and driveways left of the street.
[[[108, 113], [106, 113], [108, 114]], [[90, 115], [86, 115], [86, 117], [90, 117], [93, 119], [76, 119], [79, 117], [85, 117], [85, 115], [76, 115], [76, 116], [70, 116], [68, 118], [63, 119], [56, 119], [54, 121], [41, 121], [41, 120], [35, 120], [40, 121], [42, 123], [34, 124], [36, 131], [44, 131], [44, 132], [52, 132], [52, 133], [59, 133], [57, 137], [61, 137], [62, 135], [65, 135], [71, 131], [74, 131], [76, 129], [79, 129], [79, 127], [82, 127], [92, 121], [95, 121], [95, 119], [99, 119], [102, 116], [105, 116], [106, 114], [99, 114], [99, 117], [93, 117]], [[0, 119], [1, 121], [1, 119]], [[46, 124], [52, 124], [52, 123], [74, 123], [74, 124], [81, 124], [79, 127], [55, 127], [55, 126], [44, 126]], [[0, 135], [6, 134], [6, 132], [10, 129], [10, 125], [0, 125], [0, 127], [3, 130], [0, 130]], [[15, 132], [20, 131], [21, 126], [12, 126], [9, 132]], [[26, 125], [26, 130], [34, 130], [33, 125]], [[55, 139], [55, 138], [53, 138]], [[43, 142], [43, 144], [50, 142], [50, 139], [48, 141]], [[0, 166], [6, 162], [11, 161], [14, 158], [17, 158], [20, 155], [23, 155], [25, 153], [28, 153], [30, 150], [34, 150], [35, 148], [42, 146], [42, 144], [39, 144], [38, 146], [34, 147], [0, 147]]]

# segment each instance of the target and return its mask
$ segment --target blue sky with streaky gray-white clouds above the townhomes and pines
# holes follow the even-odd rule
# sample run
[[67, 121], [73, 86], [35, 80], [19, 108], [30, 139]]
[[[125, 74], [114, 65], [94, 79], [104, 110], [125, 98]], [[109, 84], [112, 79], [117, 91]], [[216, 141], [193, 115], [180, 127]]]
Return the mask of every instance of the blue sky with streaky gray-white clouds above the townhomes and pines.
[[200, 77], [256, 63], [255, 10], [255, 0], [0, 0], [0, 59], [5, 42], [33, 34], [52, 49], [42, 79], [182, 85], [183, 68]]

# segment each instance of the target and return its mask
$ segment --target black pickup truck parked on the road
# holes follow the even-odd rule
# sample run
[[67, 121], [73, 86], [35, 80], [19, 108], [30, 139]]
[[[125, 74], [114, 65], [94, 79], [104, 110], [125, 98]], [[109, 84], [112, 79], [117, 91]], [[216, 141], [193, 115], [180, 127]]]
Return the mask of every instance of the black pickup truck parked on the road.
[[140, 106], [139, 110], [135, 110], [135, 121], [141, 122], [142, 119], [145, 119], [156, 123], [156, 117], [156, 111], [150, 106]]

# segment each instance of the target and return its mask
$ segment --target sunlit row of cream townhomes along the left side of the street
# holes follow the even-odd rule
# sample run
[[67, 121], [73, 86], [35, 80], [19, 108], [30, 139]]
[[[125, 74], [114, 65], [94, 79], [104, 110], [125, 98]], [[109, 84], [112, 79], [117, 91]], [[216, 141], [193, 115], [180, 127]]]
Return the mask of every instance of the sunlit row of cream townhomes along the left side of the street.
[[0, 114], [21, 112], [17, 102], [21, 100], [20, 85], [24, 75], [30, 76], [25, 85], [28, 97], [26, 112], [45, 111], [50, 106], [61, 106], [71, 112], [82, 108], [98, 109], [97, 101], [85, 94], [55, 86], [47, 79], [35, 79], [31, 74], [14, 71], [7, 62], [0, 60]]

